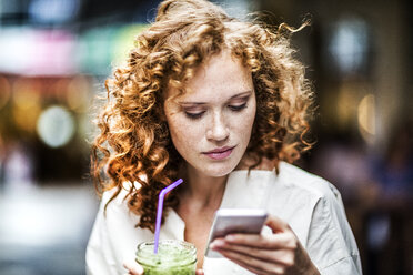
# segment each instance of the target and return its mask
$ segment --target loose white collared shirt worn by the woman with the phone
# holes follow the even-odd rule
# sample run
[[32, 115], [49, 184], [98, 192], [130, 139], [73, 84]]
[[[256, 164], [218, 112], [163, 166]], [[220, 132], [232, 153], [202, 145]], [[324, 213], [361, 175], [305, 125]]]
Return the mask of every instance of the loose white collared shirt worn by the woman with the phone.
[[[129, 211], [123, 200], [127, 190], [109, 203], [103, 214], [112, 194], [112, 191], [103, 194], [89, 240], [88, 274], [124, 274], [122, 264], [134, 258], [137, 245], [153, 241], [152, 232], [135, 227], [139, 216]], [[234, 171], [228, 177], [221, 207], [266, 208], [289, 223], [321, 274], [362, 274], [340, 193], [319, 176], [288, 163], [280, 164], [279, 175], [274, 171], [255, 170], [250, 175], [245, 170]], [[184, 240], [184, 222], [173, 210], [165, 211], [169, 215], [160, 238]], [[226, 258], [205, 257], [203, 269], [205, 275], [252, 274]]]

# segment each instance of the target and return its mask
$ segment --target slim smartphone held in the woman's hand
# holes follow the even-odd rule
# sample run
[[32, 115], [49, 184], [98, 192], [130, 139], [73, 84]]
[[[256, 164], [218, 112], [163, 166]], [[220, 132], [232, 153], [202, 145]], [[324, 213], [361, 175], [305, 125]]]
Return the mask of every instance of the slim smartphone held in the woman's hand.
[[222, 257], [209, 248], [210, 243], [218, 237], [231, 233], [260, 234], [268, 213], [261, 208], [220, 208], [215, 212], [210, 235], [206, 242], [206, 257]]

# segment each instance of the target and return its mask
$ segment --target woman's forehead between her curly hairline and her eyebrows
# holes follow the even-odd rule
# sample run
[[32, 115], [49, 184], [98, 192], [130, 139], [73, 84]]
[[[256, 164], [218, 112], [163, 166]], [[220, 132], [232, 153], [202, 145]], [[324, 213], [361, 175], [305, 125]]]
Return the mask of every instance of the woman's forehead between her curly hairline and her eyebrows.
[[249, 68], [228, 51], [211, 57], [201, 64], [184, 84], [184, 93], [168, 89], [167, 98], [191, 101], [213, 101], [230, 99], [234, 94], [252, 91], [252, 78]]

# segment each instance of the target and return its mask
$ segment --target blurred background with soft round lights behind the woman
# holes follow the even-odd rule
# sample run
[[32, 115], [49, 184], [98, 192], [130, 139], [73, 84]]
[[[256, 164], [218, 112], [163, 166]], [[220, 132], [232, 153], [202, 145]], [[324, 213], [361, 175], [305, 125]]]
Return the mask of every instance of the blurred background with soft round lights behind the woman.
[[[84, 274], [91, 105], [157, 0], [0, 0], [0, 274]], [[342, 193], [364, 274], [413, 274], [413, 3], [222, 0], [293, 35], [316, 93], [298, 163]]]

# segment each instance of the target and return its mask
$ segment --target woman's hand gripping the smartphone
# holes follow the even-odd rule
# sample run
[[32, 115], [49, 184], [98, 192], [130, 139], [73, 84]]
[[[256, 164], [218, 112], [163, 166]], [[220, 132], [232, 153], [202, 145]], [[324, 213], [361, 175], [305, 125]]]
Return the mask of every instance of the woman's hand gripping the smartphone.
[[230, 234], [216, 238], [211, 248], [255, 274], [320, 274], [290, 226], [275, 216], [265, 224], [269, 236]]

